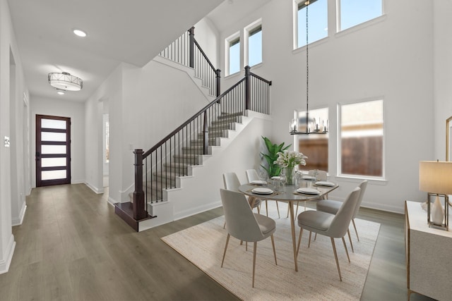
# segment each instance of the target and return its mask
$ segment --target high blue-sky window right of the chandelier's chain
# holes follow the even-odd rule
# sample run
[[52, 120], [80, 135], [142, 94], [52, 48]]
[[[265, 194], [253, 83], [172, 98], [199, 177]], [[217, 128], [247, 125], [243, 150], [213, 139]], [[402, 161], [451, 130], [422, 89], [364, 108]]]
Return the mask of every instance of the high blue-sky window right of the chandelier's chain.
[[381, 2], [382, 0], [338, 0], [338, 31], [381, 16]]

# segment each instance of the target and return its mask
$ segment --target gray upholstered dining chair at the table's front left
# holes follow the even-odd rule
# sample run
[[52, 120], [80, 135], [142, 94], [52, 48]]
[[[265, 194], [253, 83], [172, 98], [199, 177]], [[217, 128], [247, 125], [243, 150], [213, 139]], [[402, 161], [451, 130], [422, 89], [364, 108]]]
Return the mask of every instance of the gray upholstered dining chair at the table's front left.
[[249, 203], [246, 202], [246, 197], [241, 192], [232, 190], [220, 189], [221, 202], [223, 210], [225, 211], [227, 238], [225, 244], [225, 252], [221, 261], [221, 267], [225, 263], [225, 256], [227, 244], [230, 236], [246, 242], [254, 242], [253, 248], [253, 284], [254, 288], [254, 274], [256, 271], [256, 252], [257, 242], [264, 240], [270, 236], [271, 244], [273, 246], [273, 255], [276, 261], [275, 240], [273, 233], [276, 231], [276, 223], [273, 219], [261, 214], [254, 214], [251, 211]]

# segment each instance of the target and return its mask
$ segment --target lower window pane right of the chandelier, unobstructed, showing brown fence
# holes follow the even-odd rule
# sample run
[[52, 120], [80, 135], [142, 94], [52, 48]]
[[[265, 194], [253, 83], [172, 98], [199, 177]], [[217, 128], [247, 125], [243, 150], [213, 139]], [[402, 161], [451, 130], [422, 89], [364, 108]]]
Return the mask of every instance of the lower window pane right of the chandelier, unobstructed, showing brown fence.
[[342, 175], [383, 177], [383, 100], [344, 104], [340, 111]]

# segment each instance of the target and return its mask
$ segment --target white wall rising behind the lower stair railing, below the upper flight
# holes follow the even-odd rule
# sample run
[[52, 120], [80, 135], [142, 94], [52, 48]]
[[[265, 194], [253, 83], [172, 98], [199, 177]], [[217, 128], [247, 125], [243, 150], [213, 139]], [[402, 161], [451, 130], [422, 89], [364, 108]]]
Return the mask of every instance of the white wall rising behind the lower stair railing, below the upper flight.
[[[110, 202], [129, 200], [128, 192], [134, 183], [133, 149], [150, 149], [209, 102], [186, 73], [190, 71], [169, 65], [159, 58], [143, 68], [121, 64], [85, 104], [86, 126], [95, 128], [97, 118], [102, 121], [98, 100], [109, 99]], [[95, 166], [102, 158], [88, 158], [88, 152], [97, 153], [94, 145], [96, 140], [102, 142], [102, 137], [96, 130], [87, 130], [86, 139], [86, 180], [97, 183], [95, 179], [100, 178], [102, 172], [96, 171]], [[100, 149], [102, 144], [98, 147]]]

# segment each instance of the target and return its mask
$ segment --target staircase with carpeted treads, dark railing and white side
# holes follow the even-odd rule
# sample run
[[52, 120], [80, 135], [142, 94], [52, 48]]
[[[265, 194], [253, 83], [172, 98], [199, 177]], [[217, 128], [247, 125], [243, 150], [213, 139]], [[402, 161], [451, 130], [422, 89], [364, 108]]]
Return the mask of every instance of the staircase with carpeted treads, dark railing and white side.
[[[188, 38], [184, 37], [181, 41], [189, 41], [198, 49], [192, 30]], [[245, 67], [244, 78], [220, 94], [220, 70], [213, 68], [201, 49], [199, 55], [189, 59], [185, 56], [182, 59], [167, 57], [167, 54], [173, 53], [162, 51], [160, 56], [181, 65], [188, 61], [190, 68], [198, 66], [201, 60], [206, 61], [209, 71], [199, 72], [195, 68], [194, 77], [201, 78], [201, 87], [205, 85], [208, 88], [207, 98], [209, 94], [216, 94], [217, 97], [147, 152], [135, 149], [135, 187], [134, 192], [129, 194], [131, 202], [115, 204], [115, 212], [135, 231], [218, 207], [220, 201], [213, 201], [212, 195], [218, 194], [221, 183], [215, 185], [215, 190], [210, 190], [210, 187], [203, 189], [203, 192], [209, 192], [210, 199], [199, 195], [199, 191], [192, 191], [194, 185], [184, 187], [182, 183], [193, 182], [196, 169], [203, 167], [207, 159], [221, 151], [222, 142], [225, 145], [230, 143], [228, 140], [243, 130], [254, 116], [265, 119], [270, 113], [271, 82], [251, 73], [249, 66]], [[210, 85], [213, 82], [215, 85]], [[214, 180], [206, 178], [206, 174], [202, 177], [205, 178], [202, 183]], [[182, 203], [181, 199], [187, 195], [193, 199]]]

